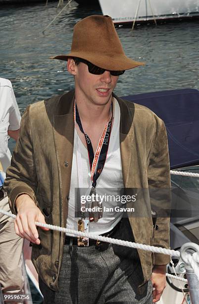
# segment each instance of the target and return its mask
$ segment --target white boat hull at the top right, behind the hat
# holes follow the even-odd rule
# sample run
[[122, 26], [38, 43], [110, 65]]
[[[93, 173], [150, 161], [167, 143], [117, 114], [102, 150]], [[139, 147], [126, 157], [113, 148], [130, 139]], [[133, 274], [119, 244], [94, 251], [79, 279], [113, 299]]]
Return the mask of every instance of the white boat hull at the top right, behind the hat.
[[115, 24], [199, 17], [199, 0], [99, 0], [99, 4]]

